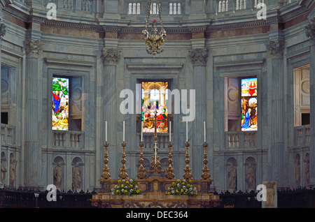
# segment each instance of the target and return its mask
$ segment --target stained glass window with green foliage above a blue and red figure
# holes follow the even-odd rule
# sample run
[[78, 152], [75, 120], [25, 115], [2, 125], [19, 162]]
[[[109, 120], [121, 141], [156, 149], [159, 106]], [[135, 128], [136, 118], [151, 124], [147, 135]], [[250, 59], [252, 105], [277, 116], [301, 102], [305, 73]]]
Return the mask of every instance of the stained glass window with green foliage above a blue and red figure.
[[52, 78], [52, 130], [69, 131], [69, 78]]

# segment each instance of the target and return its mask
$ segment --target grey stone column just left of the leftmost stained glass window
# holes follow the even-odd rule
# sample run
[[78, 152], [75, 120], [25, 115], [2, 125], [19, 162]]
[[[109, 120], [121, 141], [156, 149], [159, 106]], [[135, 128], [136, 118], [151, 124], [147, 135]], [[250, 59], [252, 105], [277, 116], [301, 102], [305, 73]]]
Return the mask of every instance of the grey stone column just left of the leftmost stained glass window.
[[41, 182], [41, 145], [38, 144], [38, 57], [43, 42], [25, 40], [25, 186], [36, 188]]

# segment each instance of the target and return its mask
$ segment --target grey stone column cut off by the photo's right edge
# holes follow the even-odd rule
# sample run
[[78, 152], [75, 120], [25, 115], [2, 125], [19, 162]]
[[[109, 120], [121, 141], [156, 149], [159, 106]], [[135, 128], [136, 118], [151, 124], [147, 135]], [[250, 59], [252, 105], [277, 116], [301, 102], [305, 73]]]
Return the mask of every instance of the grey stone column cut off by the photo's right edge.
[[309, 144], [309, 184], [315, 186], [315, 17], [305, 28], [305, 34], [309, 38], [309, 95], [310, 95], [310, 125], [311, 138]]

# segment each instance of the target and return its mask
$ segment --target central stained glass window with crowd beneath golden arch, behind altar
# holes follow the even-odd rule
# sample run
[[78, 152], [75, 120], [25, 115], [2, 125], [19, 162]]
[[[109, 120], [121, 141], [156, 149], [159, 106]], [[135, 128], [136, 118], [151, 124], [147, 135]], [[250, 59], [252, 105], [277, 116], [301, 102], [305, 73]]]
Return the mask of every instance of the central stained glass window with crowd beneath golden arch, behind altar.
[[153, 119], [157, 115], [157, 133], [168, 132], [168, 82], [142, 82], [142, 121], [144, 133], [154, 133]]

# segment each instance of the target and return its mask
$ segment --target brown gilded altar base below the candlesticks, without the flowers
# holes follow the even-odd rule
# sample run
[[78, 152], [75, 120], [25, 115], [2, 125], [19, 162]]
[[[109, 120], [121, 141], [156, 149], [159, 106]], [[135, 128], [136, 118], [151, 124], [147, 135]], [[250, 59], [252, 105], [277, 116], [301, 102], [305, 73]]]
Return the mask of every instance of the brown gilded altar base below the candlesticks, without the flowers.
[[92, 195], [92, 205], [100, 208], [211, 208], [220, 206], [219, 195], [209, 191], [211, 179], [193, 180], [193, 186], [197, 188], [198, 194], [168, 195], [169, 186], [176, 179], [135, 179], [139, 182], [139, 188], [143, 194], [140, 195], [113, 195], [111, 188], [118, 184], [116, 179], [100, 179], [102, 192]]

